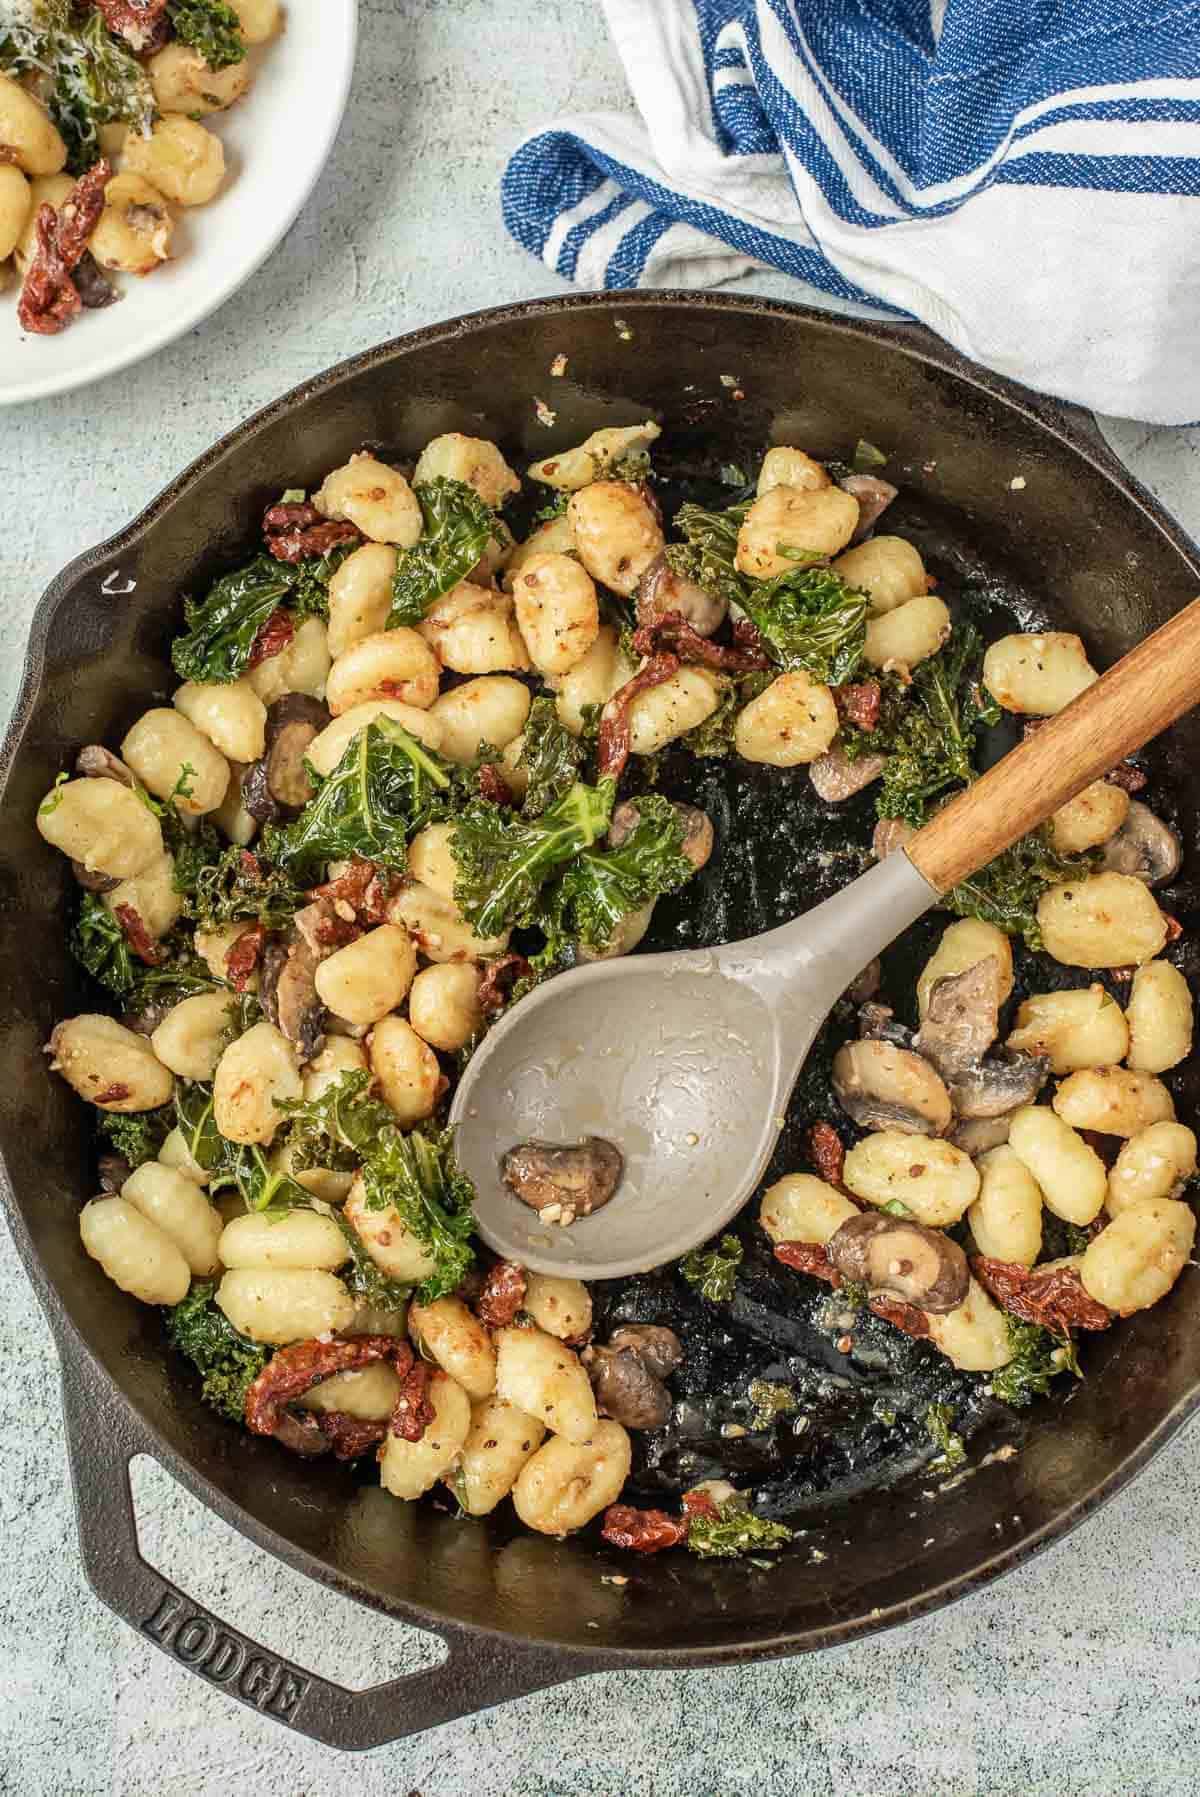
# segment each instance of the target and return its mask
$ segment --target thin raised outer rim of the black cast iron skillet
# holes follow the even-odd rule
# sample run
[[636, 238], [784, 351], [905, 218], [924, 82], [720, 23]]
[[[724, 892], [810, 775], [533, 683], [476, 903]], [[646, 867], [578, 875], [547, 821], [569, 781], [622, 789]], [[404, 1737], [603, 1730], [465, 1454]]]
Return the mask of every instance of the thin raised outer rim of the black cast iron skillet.
[[[471, 338], [480, 332], [487, 332], [494, 325], [516, 323], [528, 318], [553, 318], [573, 313], [620, 314], [647, 309], [692, 309], [710, 314], [731, 313], [742, 316], [774, 316], [781, 322], [792, 318], [805, 320], [807, 323], [817, 325], [821, 331], [832, 334], [835, 340], [868, 340], [889, 350], [896, 350], [913, 361], [936, 368], [941, 374], [949, 374], [986, 394], [990, 399], [999, 401], [1006, 410], [1017, 412], [1037, 431], [1049, 435], [1060, 446], [1090, 464], [1092, 469], [1096, 469], [1117, 491], [1123, 501], [1134, 505], [1146, 518], [1146, 521], [1168, 539], [1175, 553], [1200, 582], [1200, 553], [1196, 552], [1196, 544], [1164, 510], [1155, 496], [1121, 464], [1105, 442], [1090, 413], [1049, 395], [1035, 394], [1002, 376], [972, 365], [922, 327], [864, 320], [821, 311], [817, 307], [737, 293], [647, 289], [641, 293], [622, 293], [620, 297], [611, 293], [550, 295], [546, 298], [521, 300], [510, 305], [462, 313], [438, 323], [422, 325], [417, 331], [390, 338], [384, 343], [361, 350], [359, 354], [325, 368], [322, 374], [298, 383], [278, 399], [262, 406], [241, 424], [234, 426], [234, 429], [219, 437], [217, 442], [196, 456], [171, 482], [167, 482], [167, 485], [162, 487], [160, 492], [122, 530], [117, 530], [106, 541], [75, 555], [50, 580], [45, 593], [38, 600], [29, 625], [22, 683], [9, 726], [5, 730], [4, 744], [0, 746], [0, 798], [7, 791], [31, 722], [31, 712], [41, 692], [47, 640], [59, 607], [77, 588], [79, 580], [84, 579], [95, 566], [115, 557], [149, 534], [169, 510], [187, 498], [192, 485], [214, 469], [228, 451], [250, 440], [269, 422], [305, 406], [311, 399], [316, 399], [323, 392], [338, 386], [341, 381], [372, 367], [388, 363], [397, 356], [419, 352], [422, 347], [444, 343], [454, 338]], [[1146, 1434], [1139, 1447], [1119, 1463], [1119, 1466], [1101, 1479], [1094, 1490], [1069, 1504], [1053, 1522], [1044, 1524], [1029, 1535], [1022, 1535], [1019, 1540], [1004, 1545], [995, 1554], [990, 1554], [977, 1567], [961, 1572], [956, 1578], [943, 1580], [920, 1596], [904, 1599], [862, 1617], [830, 1621], [819, 1628], [805, 1630], [803, 1635], [776, 1633], [762, 1641], [740, 1641], [710, 1648], [670, 1646], [645, 1650], [605, 1646], [602, 1650], [587, 1650], [586, 1646], [578, 1646], [571, 1641], [530, 1637], [516, 1633], [508, 1628], [463, 1623], [458, 1617], [447, 1617], [408, 1599], [381, 1598], [357, 1578], [340, 1572], [331, 1567], [329, 1562], [318, 1558], [304, 1547], [296, 1547], [275, 1529], [260, 1524], [255, 1517], [243, 1509], [235, 1499], [226, 1497], [212, 1484], [212, 1481], [199, 1474], [192, 1466], [190, 1459], [171, 1447], [158, 1427], [142, 1416], [117, 1382], [95, 1360], [70, 1315], [65, 1297], [50, 1281], [34, 1251], [32, 1238], [25, 1226], [25, 1218], [16, 1206], [7, 1166], [2, 1157], [0, 1197], [4, 1199], [5, 1211], [9, 1213], [9, 1227], [18, 1254], [50, 1324], [59, 1353], [63, 1384], [92, 1385], [93, 1403], [97, 1409], [102, 1403], [110, 1412], [113, 1407], [119, 1411], [124, 1425], [122, 1436], [131, 1439], [137, 1438], [135, 1445], [129, 1448], [129, 1457], [133, 1457], [133, 1454], [151, 1454], [158, 1465], [162, 1465], [185, 1486], [185, 1490], [198, 1497], [223, 1522], [232, 1524], [243, 1536], [251, 1540], [257, 1547], [271, 1553], [277, 1560], [282, 1560], [284, 1565], [304, 1572], [331, 1590], [354, 1598], [372, 1610], [395, 1616], [410, 1626], [444, 1637], [451, 1644], [451, 1660], [446, 1662], [447, 1668], [453, 1662], [454, 1644], [460, 1642], [462, 1650], [469, 1651], [471, 1641], [512, 1644], [517, 1650], [525, 1650], [530, 1659], [544, 1659], [546, 1655], [559, 1657], [562, 1660], [562, 1668], [557, 1677], [571, 1678], [586, 1671], [604, 1671], [622, 1666], [681, 1669], [720, 1666], [738, 1660], [771, 1660], [799, 1651], [839, 1646], [887, 1628], [896, 1628], [904, 1623], [916, 1621], [922, 1616], [929, 1616], [934, 1610], [945, 1608], [949, 1603], [990, 1585], [993, 1580], [1042, 1553], [1053, 1542], [1067, 1536], [1096, 1509], [1108, 1502], [1108, 1499], [1114, 1497], [1125, 1484], [1128, 1484], [1128, 1481], [1134, 1479], [1182, 1429], [1195, 1411], [1200, 1409], [1198, 1378], [1193, 1387], [1180, 1396]], [[79, 1475], [79, 1456], [75, 1454], [75, 1443], [72, 1439], [70, 1407], [66, 1407], [65, 1432], [68, 1457], [72, 1461], [72, 1475]], [[86, 1474], [83, 1474], [83, 1479], [86, 1479]], [[81, 1493], [77, 1492], [77, 1497]], [[438, 1668], [433, 1668], [433, 1671], [437, 1669]], [[365, 1691], [354, 1695], [359, 1698], [368, 1696]]]

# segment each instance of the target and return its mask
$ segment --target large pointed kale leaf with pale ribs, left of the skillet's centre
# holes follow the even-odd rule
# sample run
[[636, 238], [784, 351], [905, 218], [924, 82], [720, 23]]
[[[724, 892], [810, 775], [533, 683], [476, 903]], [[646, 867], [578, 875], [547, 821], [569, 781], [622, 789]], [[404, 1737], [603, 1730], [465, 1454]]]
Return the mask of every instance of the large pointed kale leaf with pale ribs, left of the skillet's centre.
[[271, 825], [262, 854], [286, 873], [311, 877], [327, 861], [361, 857], [402, 868], [410, 837], [442, 816], [456, 771], [390, 717], [349, 744], [295, 823]]

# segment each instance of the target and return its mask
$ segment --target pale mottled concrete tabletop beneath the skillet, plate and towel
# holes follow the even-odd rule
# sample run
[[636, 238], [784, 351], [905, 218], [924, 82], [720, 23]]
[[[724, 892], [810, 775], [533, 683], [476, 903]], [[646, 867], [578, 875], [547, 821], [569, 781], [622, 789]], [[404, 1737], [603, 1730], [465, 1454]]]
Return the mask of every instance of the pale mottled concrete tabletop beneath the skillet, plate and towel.
[[[293, 20], [309, 7], [293, 0]], [[560, 286], [503, 232], [503, 158], [560, 111], [623, 104], [589, 5], [366, 0], [332, 164], [259, 277], [154, 361], [0, 413], [5, 715], [45, 582], [225, 429], [381, 338]], [[803, 297], [769, 275], [751, 286]], [[1200, 536], [1200, 431], [1105, 428]], [[7, 1238], [0, 1351], [0, 1792], [11, 1797], [1198, 1788], [1195, 1429], [1071, 1540], [925, 1623], [819, 1659], [584, 1680], [347, 1759], [183, 1673], [86, 1589], [57, 1369]], [[277, 1565], [153, 1465], [138, 1468], [137, 1490], [149, 1558], [268, 1646], [356, 1686], [428, 1662], [424, 1637]]]

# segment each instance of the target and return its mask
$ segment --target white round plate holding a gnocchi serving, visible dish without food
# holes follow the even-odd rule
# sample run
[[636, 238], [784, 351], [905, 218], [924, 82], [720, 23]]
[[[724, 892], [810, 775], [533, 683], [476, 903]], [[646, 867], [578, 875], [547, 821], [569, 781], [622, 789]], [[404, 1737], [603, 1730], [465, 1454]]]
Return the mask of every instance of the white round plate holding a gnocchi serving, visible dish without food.
[[119, 305], [57, 336], [25, 334], [16, 288], [0, 293], [0, 406], [68, 394], [183, 336], [268, 259], [332, 149], [354, 68], [357, 0], [289, 0], [278, 38], [251, 50], [255, 83], [203, 122], [225, 144], [226, 185], [176, 210], [178, 255], [144, 280], [119, 275]]

